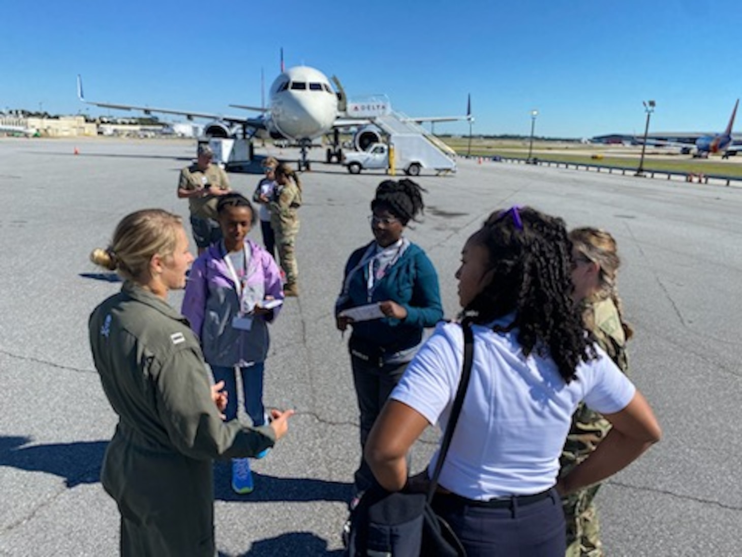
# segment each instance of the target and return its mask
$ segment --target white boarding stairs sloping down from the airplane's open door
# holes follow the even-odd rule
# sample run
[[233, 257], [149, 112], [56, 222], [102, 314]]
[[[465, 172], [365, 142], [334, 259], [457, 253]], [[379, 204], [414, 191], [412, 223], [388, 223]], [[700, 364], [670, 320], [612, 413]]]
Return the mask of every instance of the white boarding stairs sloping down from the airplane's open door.
[[[405, 149], [416, 152], [430, 169], [456, 172], [456, 152], [405, 114], [390, 111], [389, 114], [375, 117], [373, 123], [390, 136], [393, 144], [397, 138], [397, 143], [401, 145], [404, 137]], [[411, 149], [410, 143], [413, 143]]]

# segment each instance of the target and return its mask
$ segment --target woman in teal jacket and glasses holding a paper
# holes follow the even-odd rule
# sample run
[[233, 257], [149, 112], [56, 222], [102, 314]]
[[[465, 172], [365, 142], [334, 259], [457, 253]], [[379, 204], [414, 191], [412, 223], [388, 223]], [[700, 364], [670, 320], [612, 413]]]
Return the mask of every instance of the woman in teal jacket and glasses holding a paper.
[[[350, 255], [335, 302], [338, 329], [352, 326], [348, 348], [361, 411], [361, 452], [381, 407], [421, 344], [423, 329], [443, 318], [436, 270], [421, 247], [403, 235], [407, 223], [423, 212], [424, 191], [406, 179], [379, 184], [371, 202], [374, 241]], [[354, 322], [345, 313], [368, 304], [376, 304], [381, 317]], [[372, 481], [361, 457], [356, 491]]]

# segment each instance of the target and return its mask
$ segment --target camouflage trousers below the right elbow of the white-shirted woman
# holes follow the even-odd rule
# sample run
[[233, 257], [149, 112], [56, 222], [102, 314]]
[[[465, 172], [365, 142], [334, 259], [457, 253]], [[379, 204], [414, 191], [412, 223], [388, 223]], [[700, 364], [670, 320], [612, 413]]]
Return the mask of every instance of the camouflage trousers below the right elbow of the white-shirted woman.
[[566, 557], [603, 557], [600, 522], [594, 502], [598, 489], [600, 483], [562, 499], [567, 523]]

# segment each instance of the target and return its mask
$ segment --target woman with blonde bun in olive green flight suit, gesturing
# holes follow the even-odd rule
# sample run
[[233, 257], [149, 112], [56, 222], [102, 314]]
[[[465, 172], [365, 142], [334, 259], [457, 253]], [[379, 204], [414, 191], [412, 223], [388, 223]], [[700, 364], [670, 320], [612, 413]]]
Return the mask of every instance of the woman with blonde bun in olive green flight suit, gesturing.
[[91, 313], [93, 361], [119, 423], [101, 483], [121, 514], [122, 556], [214, 557], [214, 458], [249, 457], [286, 434], [289, 411], [257, 428], [224, 422], [198, 339], [165, 301], [193, 261], [180, 217], [125, 217], [91, 259], [125, 278]]

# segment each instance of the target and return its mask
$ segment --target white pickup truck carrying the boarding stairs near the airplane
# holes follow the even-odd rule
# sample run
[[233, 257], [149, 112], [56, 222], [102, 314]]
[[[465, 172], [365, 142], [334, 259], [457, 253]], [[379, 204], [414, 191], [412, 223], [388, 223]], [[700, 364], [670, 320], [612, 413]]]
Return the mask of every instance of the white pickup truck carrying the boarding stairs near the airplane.
[[[456, 163], [433, 146], [421, 135], [394, 134], [394, 168], [410, 176], [418, 176], [421, 169], [437, 173], [456, 172]], [[386, 170], [389, 168], [389, 146], [372, 143], [363, 152], [344, 152], [343, 164], [351, 174], [361, 170]]]

